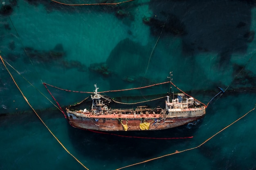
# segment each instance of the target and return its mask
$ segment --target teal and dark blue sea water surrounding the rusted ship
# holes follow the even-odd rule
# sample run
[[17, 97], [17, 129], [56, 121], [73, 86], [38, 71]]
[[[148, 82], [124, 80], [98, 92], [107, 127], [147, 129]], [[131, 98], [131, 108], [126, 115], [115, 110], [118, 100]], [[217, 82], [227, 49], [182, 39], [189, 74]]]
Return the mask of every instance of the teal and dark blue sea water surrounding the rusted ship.
[[[20, 73], [6, 63], [45, 124], [90, 170], [113, 170], [193, 148], [256, 104], [253, 1], [135, 0], [78, 7], [46, 0], [0, 2], [0, 55]], [[0, 169], [83, 169], [36, 117], [3, 64], [0, 68]], [[166, 82], [170, 71], [174, 84], [205, 104], [218, 86], [227, 91], [194, 126], [122, 135], [192, 139], [135, 139], [72, 128], [42, 84], [74, 91], [93, 91], [97, 84], [107, 91]], [[49, 90], [64, 109], [88, 97]], [[146, 98], [168, 91], [166, 84], [106, 95]], [[200, 148], [126, 169], [255, 169], [255, 113]]]

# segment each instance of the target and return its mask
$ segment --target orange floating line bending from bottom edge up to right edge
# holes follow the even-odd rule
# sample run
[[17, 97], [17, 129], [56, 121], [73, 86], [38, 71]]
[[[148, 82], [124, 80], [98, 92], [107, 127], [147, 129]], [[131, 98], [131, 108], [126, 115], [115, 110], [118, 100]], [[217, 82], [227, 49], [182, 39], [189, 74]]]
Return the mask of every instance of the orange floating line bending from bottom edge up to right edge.
[[211, 137], [209, 137], [207, 140], [205, 140], [202, 144], [200, 144], [200, 145], [198, 145], [198, 146], [195, 146], [195, 147], [189, 148], [189, 149], [185, 149], [185, 150], [182, 150], [182, 151], [176, 150], [176, 151], [173, 152], [173, 153], [166, 154], [166, 155], [162, 155], [162, 156], [160, 156], [160, 157], [155, 157], [155, 158], [152, 158], [152, 159], [148, 159], [148, 160], [146, 160], [146, 161], [134, 163], [134, 164], [131, 164], [131, 165], [128, 165], [128, 166], [124, 166], [124, 167], [122, 167], [122, 168], [117, 168], [116, 170], [121, 170], [121, 169], [128, 168], [128, 167], [131, 167], [131, 166], [139, 165], [139, 164], [141, 164], [141, 163], [146, 163], [146, 162], [153, 161], [153, 160], [156, 160], [156, 159], [160, 159], [160, 158], [163, 158], [163, 157], [168, 157], [168, 156], [171, 156], [171, 155], [175, 155], [175, 154], [177, 154], [177, 153], [186, 152], [186, 151], [189, 151], [189, 150], [193, 150], [193, 149], [199, 148], [200, 146], [202, 146], [202, 145], [204, 145], [205, 143], [207, 143], [207, 141], [211, 140], [213, 137], [215, 137], [216, 135], [218, 135], [220, 132], [222, 132], [223, 130], [229, 128], [230, 126], [232, 126], [233, 124], [235, 124], [237, 121], [239, 121], [240, 119], [242, 119], [243, 117], [245, 117], [246, 115], [248, 115], [248, 113], [250, 113], [250, 112], [252, 112], [253, 110], [255, 110], [255, 108], [256, 108], [256, 104], [254, 105], [254, 108], [253, 108], [252, 110], [249, 110], [247, 113], [245, 113], [245, 115], [243, 115], [242, 117], [236, 119], [236, 121], [234, 121], [233, 123], [229, 124], [228, 126], [226, 126], [225, 128], [223, 128], [222, 130], [218, 131], [217, 133], [215, 133], [214, 135], [212, 135]]

